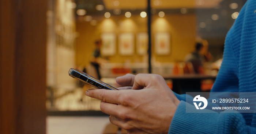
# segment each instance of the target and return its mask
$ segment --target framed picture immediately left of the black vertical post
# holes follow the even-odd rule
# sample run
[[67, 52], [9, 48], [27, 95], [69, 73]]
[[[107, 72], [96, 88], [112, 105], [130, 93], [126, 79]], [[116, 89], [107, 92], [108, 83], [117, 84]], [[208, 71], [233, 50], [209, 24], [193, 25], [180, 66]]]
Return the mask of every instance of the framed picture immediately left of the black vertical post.
[[148, 50], [148, 33], [141, 32], [137, 34], [137, 53], [139, 55], [147, 54]]

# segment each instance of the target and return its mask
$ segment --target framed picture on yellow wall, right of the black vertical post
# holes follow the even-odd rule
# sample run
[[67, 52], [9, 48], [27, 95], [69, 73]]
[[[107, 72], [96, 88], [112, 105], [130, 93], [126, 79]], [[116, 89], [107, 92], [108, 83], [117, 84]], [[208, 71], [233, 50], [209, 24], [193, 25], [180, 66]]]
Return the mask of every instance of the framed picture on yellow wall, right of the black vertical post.
[[155, 52], [157, 55], [170, 53], [170, 35], [168, 32], [155, 33]]

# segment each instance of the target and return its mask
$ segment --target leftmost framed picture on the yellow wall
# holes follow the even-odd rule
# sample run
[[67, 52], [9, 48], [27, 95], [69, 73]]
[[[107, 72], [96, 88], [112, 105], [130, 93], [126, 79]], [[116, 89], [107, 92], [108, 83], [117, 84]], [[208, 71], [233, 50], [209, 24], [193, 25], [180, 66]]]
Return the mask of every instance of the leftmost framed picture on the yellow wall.
[[102, 39], [101, 54], [103, 56], [111, 56], [116, 54], [116, 34], [102, 33], [101, 39]]

